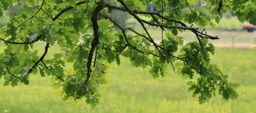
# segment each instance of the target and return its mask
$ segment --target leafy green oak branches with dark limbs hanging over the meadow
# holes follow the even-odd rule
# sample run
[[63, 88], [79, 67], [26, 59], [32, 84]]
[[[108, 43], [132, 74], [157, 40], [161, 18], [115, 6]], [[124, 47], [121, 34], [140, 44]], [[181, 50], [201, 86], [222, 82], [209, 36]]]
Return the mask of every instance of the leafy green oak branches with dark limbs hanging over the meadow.
[[[157, 12], [146, 11], [149, 3], [154, 3]], [[10, 5], [18, 4], [24, 1], [1, 0], [0, 18], [4, 18], [3, 11]], [[214, 46], [208, 40], [219, 38], [207, 35], [205, 29], [199, 31], [193, 24], [215, 28], [224, 11], [234, 11], [239, 21], [256, 25], [255, 0], [26, 0], [25, 4], [28, 7], [20, 8], [0, 29], [0, 41], [5, 43], [4, 52], [0, 53], [4, 86], [17, 86], [18, 82], [28, 85], [29, 77], [38, 73], [53, 76], [53, 89], [64, 95], [63, 101], [78, 104], [84, 99], [94, 108], [102, 96], [98, 88], [109, 85], [110, 63], [119, 65], [123, 56], [130, 59], [133, 67], [151, 67], [149, 73], [154, 79], [167, 76], [168, 66], [183, 79], [196, 79], [187, 86], [200, 104], [215, 93], [225, 100], [238, 96], [235, 89], [239, 85], [228, 81], [228, 75], [210, 63]], [[113, 10], [130, 14], [143, 32], [121, 27], [112, 19]], [[114, 24], [119, 31], [112, 28]], [[162, 34], [160, 43], [148, 32], [146, 24], [160, 27], [155, 31]], [[163, 30], [168, 32], [163, 34]], [[177, 36], [184, 31], [192, 32], [197, 40], [184, 44], [185, 37]], [[31, 51], [39, 41], [46, 45], [40, 56], [38, 50]], [[61, 52], [55, 51], [54, 58], [46, 58], [56, 44]], [[70, 64], [72, 67], [66, 69]]]

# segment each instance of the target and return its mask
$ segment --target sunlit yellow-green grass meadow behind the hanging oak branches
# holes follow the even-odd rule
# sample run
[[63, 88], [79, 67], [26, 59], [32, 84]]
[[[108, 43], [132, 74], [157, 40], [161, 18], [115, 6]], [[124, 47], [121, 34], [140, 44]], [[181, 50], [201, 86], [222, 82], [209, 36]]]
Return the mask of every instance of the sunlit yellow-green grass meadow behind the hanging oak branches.
[[[237, 42], [253, 44], [248, 39], [253, 34], [246, 31], [207, 33], [219, 37], [223, 35], [221, 40], [226, 40], [226, 43], [212, 41], [216, 44], [231, 43], [225, 34], [237, 34], [236, 37], [241, 39]], [[186, 42], [196, 41], [187, 31], [181, 35]], [[42, 53], [40, 48], [44, 46], [44, 43], [38, 43], [33, 49]], [[52, 55], [53, 51], [50, 51], [46, 58]], [[237, 89], [239, 97], [236, 100], [224, 101], [217, 95], [209, 102], [199, 105], [198, 98], [192, 98], [192, 93], [188, 92], [186, 84], [190, 79], [183, 80], [173, 72], [171, 66], [167, 77], [153, 79], [149, 75], [149, 68], [133, 68], [128, 59], [121, 58], [120, 66], [115, 63], [110, 65], [113, 76], [108, 80], [111, 85], [100, 87], [101, 104], [95, 109], [90, 108], [84, 101], [80, 101], [78, 106], [68, 101], [63, 103], [61, 95], [52, 89], [49, 81], [51, 76], [32, 75], [28, 86], [18, 83], [16, 87], [3, 87], [4, 80], [0, 79], [0, 113], [256, 113], [255, 56], [252, 48], [247, 47], [216, 48], [214, 56], [211, 56], [212, 63], [229, 75], [230, 81], [240, 84]]]

